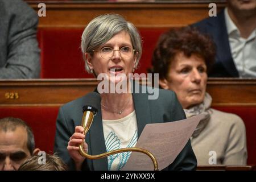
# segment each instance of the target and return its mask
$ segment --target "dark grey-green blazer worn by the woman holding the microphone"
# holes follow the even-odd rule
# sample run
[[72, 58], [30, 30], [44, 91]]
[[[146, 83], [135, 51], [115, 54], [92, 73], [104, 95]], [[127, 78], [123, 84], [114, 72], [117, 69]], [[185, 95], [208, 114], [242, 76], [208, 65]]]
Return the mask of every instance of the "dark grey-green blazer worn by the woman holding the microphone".
[[[81, 125], [82, 106], [86, 105], [86, 100], [88, 99], [88, 97], [84, 96], [61, 106], [57, 117], [54, 152], [57, 152], [57, 155], [68, 164], [71, 170], [75, 169], [75, 165], [68, 154], [67, 146], [75, 127]], [[133, 93], [133, 101], [138, 123], [138, 137], [147, 123], [185, 119], [184, 111], [179, 101], [177, 101], [176, 94], [170, 90], [159, 89], [157, 100], [148, 100], [147, 93]], [[101, 110], [98, 110], [97, 115], [94, 117], [85, 140], [88, 143], [88, 153], [90, 155], [106, 152]], [[196, 169], [196, 166], [197, 160], [189, 140], [174, 162], [165, 170], [193, 170]], [[108, 159], [86, 159], [82, 169], [107, 171]]]

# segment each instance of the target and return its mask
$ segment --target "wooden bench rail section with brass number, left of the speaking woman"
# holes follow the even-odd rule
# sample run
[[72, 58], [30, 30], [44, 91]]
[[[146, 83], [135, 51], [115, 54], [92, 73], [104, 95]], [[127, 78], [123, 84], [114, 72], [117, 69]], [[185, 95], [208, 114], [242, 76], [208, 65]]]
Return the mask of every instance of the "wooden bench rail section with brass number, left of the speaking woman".
[[59, 106], [92, 92], [96, 86], [95, 79], [0, 81], [0, 106]]

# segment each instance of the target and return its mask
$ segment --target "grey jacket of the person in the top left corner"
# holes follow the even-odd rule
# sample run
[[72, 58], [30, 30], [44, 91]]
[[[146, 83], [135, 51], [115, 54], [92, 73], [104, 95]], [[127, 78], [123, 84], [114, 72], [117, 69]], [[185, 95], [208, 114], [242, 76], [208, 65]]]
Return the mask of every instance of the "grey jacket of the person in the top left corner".
[[39, 78], [38, 15], [22, 0], [0, 0], [0, 79]]

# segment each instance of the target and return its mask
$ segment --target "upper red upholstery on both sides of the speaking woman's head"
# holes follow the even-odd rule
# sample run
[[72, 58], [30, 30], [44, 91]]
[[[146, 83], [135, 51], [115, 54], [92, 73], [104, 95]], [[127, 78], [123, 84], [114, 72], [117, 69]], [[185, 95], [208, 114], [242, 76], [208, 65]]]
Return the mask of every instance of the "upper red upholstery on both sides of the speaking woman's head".
[[[84, 68], [80, 49], [84, 28], [39, 28], [41, 78], [92, 78]], [[143, 40], [142, 58], [137, 73], [147, 73], [160, 34], [167, 28], [139, 29]]]

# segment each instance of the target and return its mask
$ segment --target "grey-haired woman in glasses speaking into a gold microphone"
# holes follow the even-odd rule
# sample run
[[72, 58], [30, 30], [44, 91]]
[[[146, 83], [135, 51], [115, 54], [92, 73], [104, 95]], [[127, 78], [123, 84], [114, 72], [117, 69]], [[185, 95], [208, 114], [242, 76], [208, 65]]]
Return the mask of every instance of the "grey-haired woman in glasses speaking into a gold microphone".
[[[104, 74], [111, 86], [120, 81], [129, 82], [129, 73], [135, 71], [141, 58], [142, 41], [133, 24], [120, 15], [106, 14], [97, 16], [85, 28], [81, 48], [86, 71], [96, 77]], [[100, 108], [86, 136], [80, 125], [82, 106], [90, 98], [85, 95], [60, 107], [56, 122], [55, 152], [68, 164], [69, 169], [121, 170], [131, 152], [89, 160], [80, 155], [79, 145], [83, 144], [90, 155], [134, 147], [147, 123], [185, 119], [174, 92], [159, 89], [158, 98], [149, 100], [148, 93], [129, 92], [129, 89], [127, 87], [127, 92], [122, 93], [100, 92]], [[85, 142], [82, 143], [84, 138]], [[196, 166], [196, 158], [188, 140], [174, 162], [165, 169], [192, 170]]]

